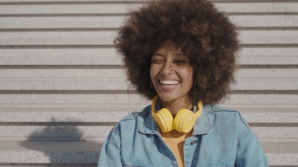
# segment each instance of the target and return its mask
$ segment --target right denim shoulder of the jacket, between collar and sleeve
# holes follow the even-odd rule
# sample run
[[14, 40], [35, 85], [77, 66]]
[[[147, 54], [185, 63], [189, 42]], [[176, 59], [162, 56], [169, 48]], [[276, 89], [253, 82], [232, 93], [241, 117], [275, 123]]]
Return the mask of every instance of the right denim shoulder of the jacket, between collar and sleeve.
[[230, 129], [235, 132], [238, 140], [252, 130], [249, 123], [238, 110], [228, 109], [219, 105], [206, 105], [204, 108], [214, 126], [218, 128], [224, 127], [226, 130]]

